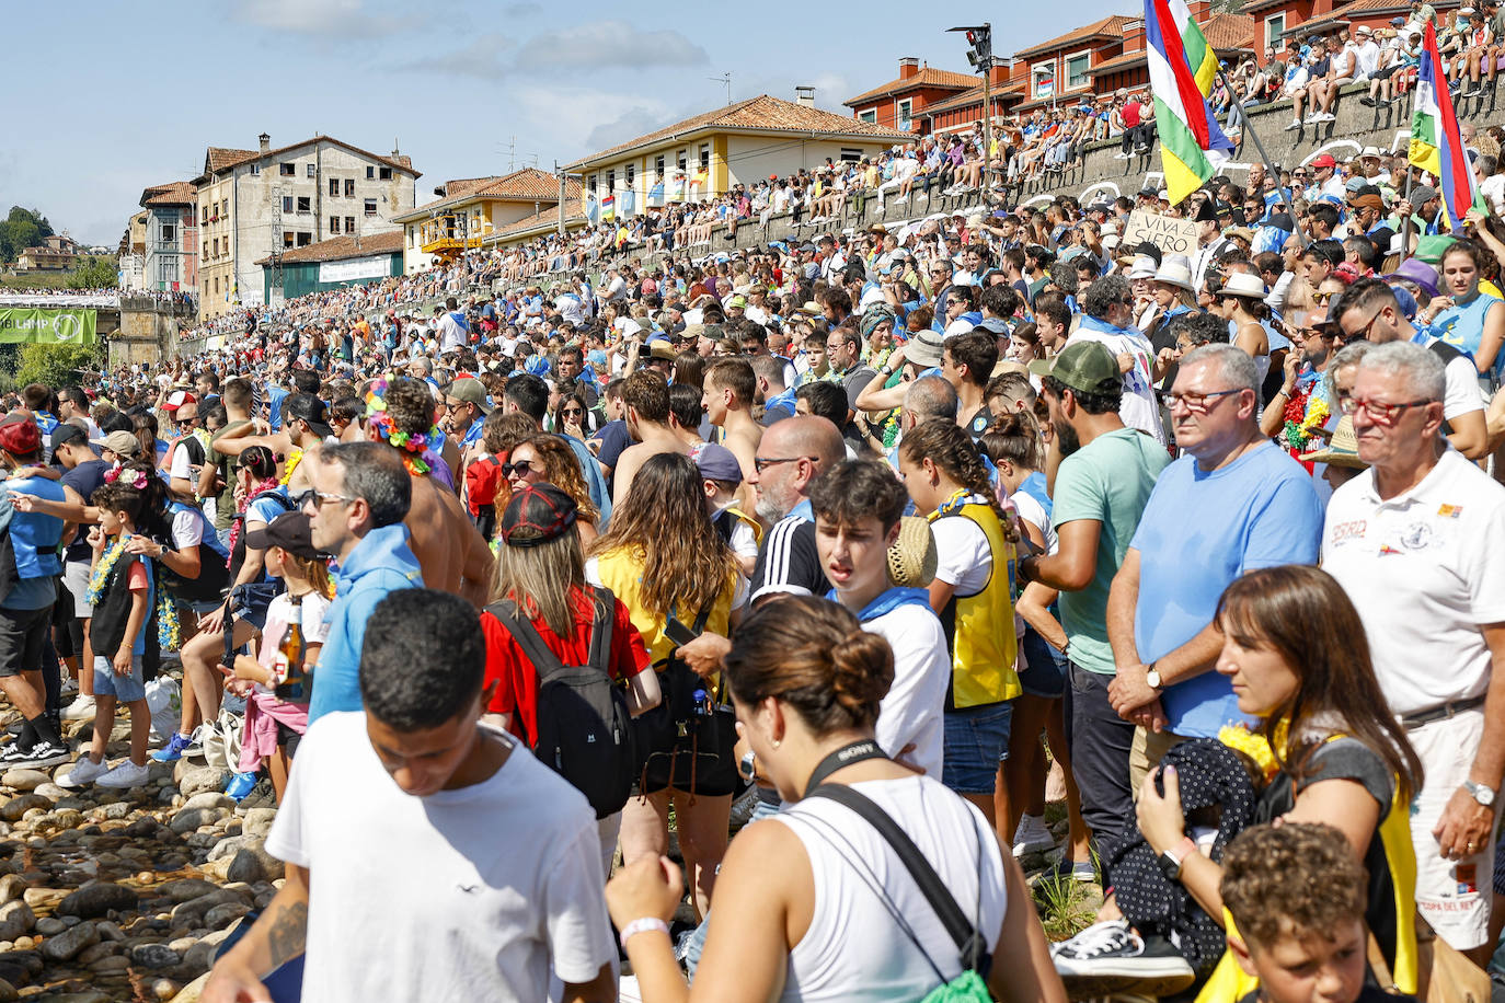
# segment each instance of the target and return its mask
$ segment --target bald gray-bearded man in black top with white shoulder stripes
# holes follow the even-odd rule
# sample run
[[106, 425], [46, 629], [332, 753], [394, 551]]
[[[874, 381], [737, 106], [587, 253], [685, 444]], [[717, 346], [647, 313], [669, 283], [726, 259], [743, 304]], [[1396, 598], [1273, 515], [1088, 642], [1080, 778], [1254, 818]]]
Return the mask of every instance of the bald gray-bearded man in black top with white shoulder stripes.
[[771, 595], [825, 595], [831, 591], [816, 552], [810, 483], [846, 459], [841, 432], [826, 418], [795, 415], [769, 426], [754, 456], [748, 483], [757, 490], [757, 516], [769, 528], [752, 571], [752, 603]]

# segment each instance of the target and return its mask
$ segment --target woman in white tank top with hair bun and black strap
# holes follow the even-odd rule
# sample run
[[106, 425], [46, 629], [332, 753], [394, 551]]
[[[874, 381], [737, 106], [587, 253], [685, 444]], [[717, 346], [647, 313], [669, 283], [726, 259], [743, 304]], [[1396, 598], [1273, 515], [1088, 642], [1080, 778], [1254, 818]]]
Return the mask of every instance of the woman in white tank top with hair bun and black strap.
[[867, 797], [914, 842], [992, 953], [996, 998], [1064, 1003], [1013, 856], [975, 808], [873, 741], [894, 674], [886, 641], [837, 603], [789, 597], [742, 626], [725, 672], [743, 746], [786, 806], [731, 842], [692, 986], [668, 938], [679, 868], [641, 859], [607, 886], [646, 1003], [911, 1003], [963, 973], [956, 940], [889, 842], [837, 800], [804, 797], [822, 785]]

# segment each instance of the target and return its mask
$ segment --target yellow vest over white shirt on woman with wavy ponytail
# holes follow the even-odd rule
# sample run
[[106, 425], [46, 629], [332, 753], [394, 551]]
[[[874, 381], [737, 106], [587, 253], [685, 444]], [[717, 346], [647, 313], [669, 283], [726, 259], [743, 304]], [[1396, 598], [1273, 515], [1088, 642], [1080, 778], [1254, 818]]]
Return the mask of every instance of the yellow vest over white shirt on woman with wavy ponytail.
[[965, 710], [1010, 701], [1023, 692], [1014, 672], [1019, 654], [1014, 544], [1004, 538], [998, 513], [983, 502], [948, 502], [930, 513], [930, 522], [936, 519], [971, 519], [987, 537], [993, 553], [987, 585], [972, 595], [953, 594], [941, 611], [941, 623], [951, 638], [951, 707]]

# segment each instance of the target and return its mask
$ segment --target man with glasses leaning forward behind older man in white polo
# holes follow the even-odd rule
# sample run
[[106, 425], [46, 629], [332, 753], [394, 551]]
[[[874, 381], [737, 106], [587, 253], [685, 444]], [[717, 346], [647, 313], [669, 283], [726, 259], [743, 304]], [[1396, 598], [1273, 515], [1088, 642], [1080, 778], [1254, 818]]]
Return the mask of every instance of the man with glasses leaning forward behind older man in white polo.
[[[1433, 337], [1406, 319], [1395, 299], [1395, 290], [1379, 278], [1361, 278], [1335, 305], [1336, 320], [1347, 343], [1368, 340], [1374, 344], [1410, 341], [1443, 364], [1446, 392], [1442, 397], [1443, 433], [1458, 453], [1470, 460], [1488, 454], [1488, 432], [1484, 421], [1484, 398], [1479, 395], [1478, 373], [1469, 356]], [[1333, 409], [1336, 411], [1336, 409]]]

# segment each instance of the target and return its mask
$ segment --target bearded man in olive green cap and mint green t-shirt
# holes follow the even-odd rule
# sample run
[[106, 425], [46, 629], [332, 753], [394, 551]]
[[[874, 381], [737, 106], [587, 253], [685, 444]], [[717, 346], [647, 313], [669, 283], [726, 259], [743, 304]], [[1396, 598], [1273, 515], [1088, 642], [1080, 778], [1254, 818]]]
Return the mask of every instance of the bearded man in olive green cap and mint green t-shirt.
[[[1073, 340], [1041, 377], [1050, 411], [1052, 450], [1060, 453], [1050, 519], [1060, 546], [1019, 562], [1029, 589], [1061, 592], [1069, 680], [1066, 728], [1082, 820], [1108, 845], [1133, 826], [1129, 750], [1135, 723], [1108, 699], [1117, 663], [1108, 644], [1108, 591], [1123, 564], [1160, 471], [1165, 447], [1124, 426], [1118, 361], [1100, 341]], [[1159, 704], [1144, 716], [1159, 714]]]

